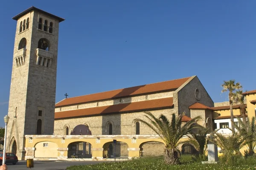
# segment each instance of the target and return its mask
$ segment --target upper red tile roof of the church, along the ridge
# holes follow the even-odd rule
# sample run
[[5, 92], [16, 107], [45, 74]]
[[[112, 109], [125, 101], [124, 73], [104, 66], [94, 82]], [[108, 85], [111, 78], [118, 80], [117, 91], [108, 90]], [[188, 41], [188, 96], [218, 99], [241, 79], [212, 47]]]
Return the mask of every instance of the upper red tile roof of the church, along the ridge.
[[148, 85], [140, 85], [131, 88], [122, 88], [119, 90], [106, 91], [97, 94], [89, 94], [85, 96], [77, 96], [72, 98], [67, 98], [55, 104], [55, 107], [64, 105], [74, 105], [78, 103], [92, 102], [104, 99], [114, 99], [125, 96], [134, 96], [139, 94], [148, 94], [157, 91], [171, 91], [179, 88], [183, 83], [185, 83], [190, 77], [183, 79], [169, 80], [166, 82], [157, 82]]

